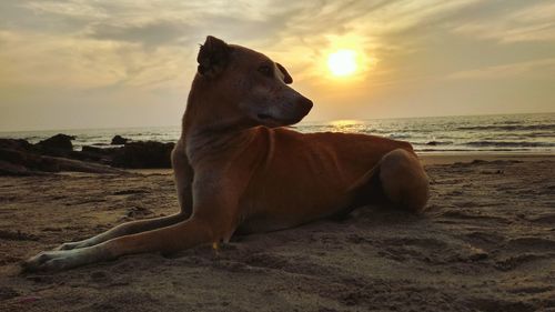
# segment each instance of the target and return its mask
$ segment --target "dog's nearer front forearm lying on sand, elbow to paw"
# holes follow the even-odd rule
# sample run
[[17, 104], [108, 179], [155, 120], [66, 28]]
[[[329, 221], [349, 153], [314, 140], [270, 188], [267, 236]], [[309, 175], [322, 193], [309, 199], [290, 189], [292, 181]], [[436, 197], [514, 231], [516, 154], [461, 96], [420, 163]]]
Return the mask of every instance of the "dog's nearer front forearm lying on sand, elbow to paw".
[[89, 263], [113, 260], [125, 254], [172, 253], [214, 240], [211, 222], [191, 218], [178, 224], [115, 238], [103, 243], [73, 250], [46, 251], [26, 261], [26, 271], [59, 271]]

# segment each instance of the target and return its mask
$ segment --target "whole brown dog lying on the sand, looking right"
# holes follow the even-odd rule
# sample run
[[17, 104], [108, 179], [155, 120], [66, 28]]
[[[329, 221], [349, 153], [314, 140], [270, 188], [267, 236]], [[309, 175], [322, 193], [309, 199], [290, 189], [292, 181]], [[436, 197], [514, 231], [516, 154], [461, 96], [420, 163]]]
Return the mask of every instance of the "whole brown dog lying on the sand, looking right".
[[142, 252], [171, 253], [347, 213], [374, 200], [422, 211], [428, 179], [411, 144], [302, 134], [312, 102], [264, 54], [208, 37], [172, 153], [181, 212], [121, 224], [42, 252], [27, 270], [62, 270]]

